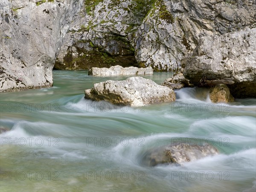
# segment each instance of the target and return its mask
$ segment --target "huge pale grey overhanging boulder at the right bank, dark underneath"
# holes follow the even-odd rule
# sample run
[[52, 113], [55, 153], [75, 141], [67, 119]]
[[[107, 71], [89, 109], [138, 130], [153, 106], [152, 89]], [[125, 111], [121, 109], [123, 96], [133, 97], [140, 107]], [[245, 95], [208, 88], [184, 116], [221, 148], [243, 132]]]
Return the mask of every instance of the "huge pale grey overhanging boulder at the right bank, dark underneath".
[[[209, 38], [212, 38], [209, 41]], [[210, 42], [210, 43], [209, 43]], [[182, 60], [184, 76], [201, 86], [206, 80], [232, 78], [230, 91], [238, 98], [256, 96], [256, 28], [203, 37]]]

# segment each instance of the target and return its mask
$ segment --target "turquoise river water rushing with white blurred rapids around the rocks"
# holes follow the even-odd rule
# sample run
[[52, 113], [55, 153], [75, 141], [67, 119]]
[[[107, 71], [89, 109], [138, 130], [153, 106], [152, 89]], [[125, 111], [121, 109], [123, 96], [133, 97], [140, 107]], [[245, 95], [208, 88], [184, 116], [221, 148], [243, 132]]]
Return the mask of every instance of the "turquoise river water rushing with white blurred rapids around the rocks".
[[[118, 107], [84, 99], [84, 89], [111, 79], [86, 74], [55, 71], [51, 88], [1, 93], [0, 124], [11, 129], [0, 135], [1, 192], [255, 191], [256, 99], [213, 104], [207, 90], [183, 88], [172, 103]], [[177, 142], [220, 153], [143, 166], [145, 151]]]

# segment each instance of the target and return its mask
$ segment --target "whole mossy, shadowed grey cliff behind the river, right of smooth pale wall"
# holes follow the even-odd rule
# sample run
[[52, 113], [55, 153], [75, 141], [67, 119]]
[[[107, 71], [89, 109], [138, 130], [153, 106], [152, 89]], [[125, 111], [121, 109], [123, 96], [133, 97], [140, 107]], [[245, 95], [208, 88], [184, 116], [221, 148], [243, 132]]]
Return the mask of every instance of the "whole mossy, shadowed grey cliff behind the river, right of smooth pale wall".
[[179, 70], [199, 38], [255, 22], [255, 0], [84, 0], [55, 67]]

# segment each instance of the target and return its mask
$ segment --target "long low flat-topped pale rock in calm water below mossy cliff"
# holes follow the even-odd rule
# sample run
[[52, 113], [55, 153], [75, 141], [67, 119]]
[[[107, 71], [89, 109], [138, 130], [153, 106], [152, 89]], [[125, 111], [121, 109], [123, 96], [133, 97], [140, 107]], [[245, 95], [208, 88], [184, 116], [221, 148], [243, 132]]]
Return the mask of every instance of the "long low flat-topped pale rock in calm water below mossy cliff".
[[98, 68], [93, 67], [88, 71], [88, 75], [92, 76], [102, 76], [102, 77], [110, 77], [110, 76], [145, 76], [152, 75], [153, 69], [152, 67], [146, 68], [138, 68], [138, 67], [122, 67], [119, 65], [112, 66], [110, 68]]

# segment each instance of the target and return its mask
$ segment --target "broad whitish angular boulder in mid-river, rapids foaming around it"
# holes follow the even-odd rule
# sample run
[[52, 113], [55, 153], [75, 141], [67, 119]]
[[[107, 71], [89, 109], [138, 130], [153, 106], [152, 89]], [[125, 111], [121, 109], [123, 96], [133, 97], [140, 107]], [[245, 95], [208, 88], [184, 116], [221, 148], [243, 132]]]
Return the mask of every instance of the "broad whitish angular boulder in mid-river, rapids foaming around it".
[[94, 84], [84, 90], [85, 98], [95, 101], [105, 100], [116, 105], [148, 105], [158, 102], [175, 101], [175, 92], [151, 79], [130, 77], [124, 81], [108, 80]]

